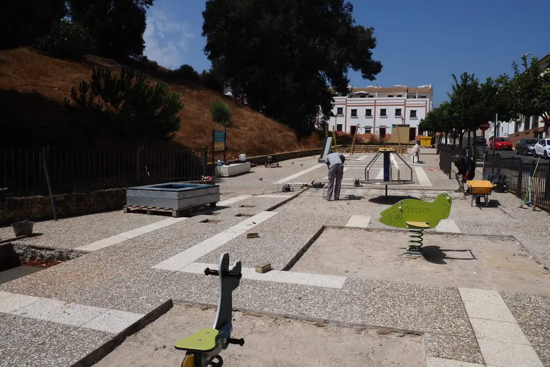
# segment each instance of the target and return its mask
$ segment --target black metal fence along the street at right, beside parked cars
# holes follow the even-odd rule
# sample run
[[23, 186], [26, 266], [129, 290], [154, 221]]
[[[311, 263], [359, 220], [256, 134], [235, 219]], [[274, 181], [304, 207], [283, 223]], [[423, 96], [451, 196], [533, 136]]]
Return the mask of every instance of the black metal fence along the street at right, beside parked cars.
[[483, 160], [483, 172], [504, 174], [510, 193], [521, 200], [536, 200], [537, 207], [550, 211], [550, 164], [546, 161], [537, 158], [534, 162], [524, 162], [521, 158], [487, 154]]

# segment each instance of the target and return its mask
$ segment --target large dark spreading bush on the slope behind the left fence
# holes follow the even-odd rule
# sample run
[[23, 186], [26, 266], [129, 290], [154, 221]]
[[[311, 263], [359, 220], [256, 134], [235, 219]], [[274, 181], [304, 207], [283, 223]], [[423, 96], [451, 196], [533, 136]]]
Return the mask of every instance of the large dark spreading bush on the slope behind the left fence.
[[120, 77], [110, 69], [95, 68], [90, 83], [73, 87], [70, 101], [85, 112], [101, 129], [111, 129], [119, 137], [159, 139], [171, 137], [179, 130], [177, 113], [183, 108], [179, 95], [169, 93], [168, 85], [159, 81], [154, 87], [145, 74], [123, 67]]

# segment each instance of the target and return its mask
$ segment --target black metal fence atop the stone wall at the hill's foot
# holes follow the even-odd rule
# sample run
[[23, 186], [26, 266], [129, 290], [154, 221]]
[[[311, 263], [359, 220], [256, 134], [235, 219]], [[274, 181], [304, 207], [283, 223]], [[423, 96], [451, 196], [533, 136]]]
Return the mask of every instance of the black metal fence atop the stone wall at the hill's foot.
[[8, 196], [48, 194], [46, 173], [54, 194], [194, 180], [206, 165], [206, 147], [0, 148], [0, 189]]

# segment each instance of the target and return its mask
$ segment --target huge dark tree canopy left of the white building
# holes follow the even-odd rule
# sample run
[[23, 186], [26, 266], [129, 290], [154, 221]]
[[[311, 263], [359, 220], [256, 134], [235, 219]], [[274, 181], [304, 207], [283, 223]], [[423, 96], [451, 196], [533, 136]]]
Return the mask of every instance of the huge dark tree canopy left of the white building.
[[348, 94], [349, 69], [382, 70], [352, 12], [344, 0], [207, 0], [204, 51], [237, 98], [306, 135], [319, 106], [332, 115], [333, 91]]

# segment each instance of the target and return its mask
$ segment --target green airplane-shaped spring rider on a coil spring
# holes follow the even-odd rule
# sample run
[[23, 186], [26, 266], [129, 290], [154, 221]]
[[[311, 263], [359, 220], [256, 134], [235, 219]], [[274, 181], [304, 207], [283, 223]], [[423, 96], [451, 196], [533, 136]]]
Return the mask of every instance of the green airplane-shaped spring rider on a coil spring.
[[387, 226], [409, 229], [412, 234], [409, 235], [408, 251], [421, 253], [424, 229], [435, 228], [439, 221], [447, 219], [452, 202], [447, 193], [437, 195], [433, 202], [404, 199], [383, 210], [379, 221]]

